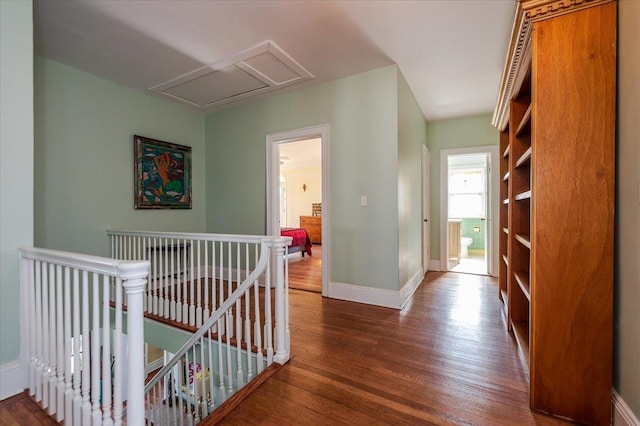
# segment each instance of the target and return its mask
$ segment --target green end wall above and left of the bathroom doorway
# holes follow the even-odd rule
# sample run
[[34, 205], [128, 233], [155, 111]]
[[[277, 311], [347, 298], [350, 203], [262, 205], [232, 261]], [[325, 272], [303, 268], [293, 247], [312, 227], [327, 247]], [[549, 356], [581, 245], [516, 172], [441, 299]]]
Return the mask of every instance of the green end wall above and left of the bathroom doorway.
[[498, 130], [491, 125], [491, 114], [427, 124], [427, 146], [431, 151], [431, 259], [440, 259], [440, 151], [499, 143]]

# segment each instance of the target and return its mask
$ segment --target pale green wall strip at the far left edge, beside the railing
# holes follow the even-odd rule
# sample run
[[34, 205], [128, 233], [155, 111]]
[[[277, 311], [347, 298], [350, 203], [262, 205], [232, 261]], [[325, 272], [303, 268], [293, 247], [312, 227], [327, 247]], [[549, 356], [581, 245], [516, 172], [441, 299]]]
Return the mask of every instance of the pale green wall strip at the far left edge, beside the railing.
[[[0, 1], [0, 399], [22, 391], [18, 248], [33, 245], [33, 4]], [[15, 373], [15, 374], [14, 374]], [[12, 376], [12, 378], [8, 378]]]

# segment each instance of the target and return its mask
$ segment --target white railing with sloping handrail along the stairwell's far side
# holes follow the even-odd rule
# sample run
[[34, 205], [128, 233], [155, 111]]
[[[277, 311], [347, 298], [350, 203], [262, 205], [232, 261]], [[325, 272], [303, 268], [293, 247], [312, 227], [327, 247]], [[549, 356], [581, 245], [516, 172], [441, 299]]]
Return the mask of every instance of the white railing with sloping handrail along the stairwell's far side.
[[154, 425], [197, 424], [268, 365], [289, 359], [291, 238], [108, 233], [114, 257], [151, 261], [147, 314], [200, 326], [145, 387]]

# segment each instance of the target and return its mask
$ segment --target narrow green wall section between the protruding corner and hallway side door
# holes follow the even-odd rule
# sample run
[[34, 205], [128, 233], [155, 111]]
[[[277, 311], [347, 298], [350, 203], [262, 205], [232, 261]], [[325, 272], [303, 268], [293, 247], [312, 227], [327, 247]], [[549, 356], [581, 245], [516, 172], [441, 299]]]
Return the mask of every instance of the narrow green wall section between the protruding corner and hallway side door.
[[422, 268], [422, 145], [427, 121], [398, 71], [398, 265], [399, 286]]

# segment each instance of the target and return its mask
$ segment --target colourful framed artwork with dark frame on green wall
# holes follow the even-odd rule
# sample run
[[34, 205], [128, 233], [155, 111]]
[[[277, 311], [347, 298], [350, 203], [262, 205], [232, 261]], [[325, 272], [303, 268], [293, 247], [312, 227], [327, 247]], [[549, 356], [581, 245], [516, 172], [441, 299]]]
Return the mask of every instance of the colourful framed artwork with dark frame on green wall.
[[136, 209], [191, 208], [191, 147], [133, 136]]

